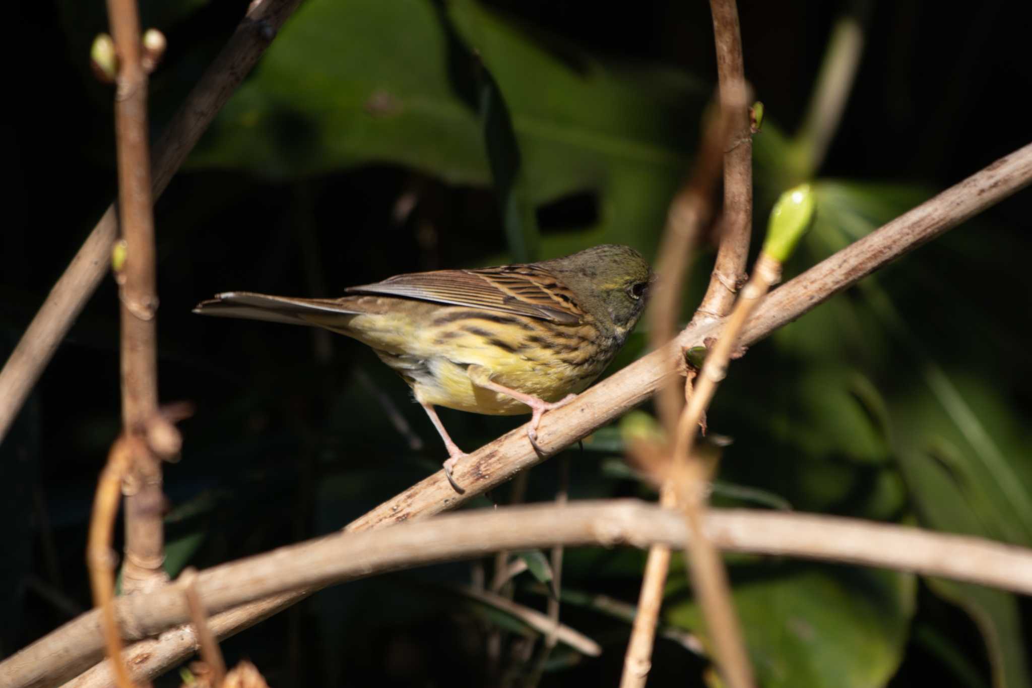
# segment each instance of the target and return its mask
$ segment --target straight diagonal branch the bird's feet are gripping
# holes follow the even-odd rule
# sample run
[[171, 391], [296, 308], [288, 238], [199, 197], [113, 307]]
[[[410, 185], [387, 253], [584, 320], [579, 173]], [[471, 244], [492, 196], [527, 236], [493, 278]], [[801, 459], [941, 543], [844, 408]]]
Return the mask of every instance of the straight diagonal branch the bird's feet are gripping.
[[[742, 343], [748, 346], [767, 336], [781, 325], [799, 318], [830, 298], [833, 294], [856, 284], [877, 268], [925, 241], [956, 227], [979, 210], [994, 205], [1028, 186], [1030, 182], [1032, 182], [1032, 144], [997, 160], [986, 169], [976, 172], [772, 291], [746, 323]], [[669, 379], [669, 361], [672, 358], [680, 357], [683, 348], [699, 346], [718, 332], [718, 325], [689, 327], [669, 347], [642, 357], [622, 370], [615, 372], [606, 381], [589, 388], [578, 399], [550, 412], [542, 420], [539, 444], [543, 445], [547, 452], [558, 451], [646, 400], [659, 385]], [[348, 530], [357, 532], [380, 528], [392, 523], [422, 519], [454, 509], [466, 499], [510, 480], [516, 473], [529, 468], [540, 460], [537, 452], [526, 439], [525, 428], [516, 428], [482, 447], [456, 466], [457, 479], [462, 482], [462, 485], [469, 486], [465, 494], [456, 495], [445, 478], [444, 471], [439, 471], [365, 514], [349, 525]], [[571, 505], [569, 509], [575, 506]], [[764, 519], [773, 519], [774, 516], [769, 513], [763, 515]], [[780, 515], [777, 516], [780, 517]], [[712, 518], [712, 514], [710, 518]], [[757, 519], [757, 521], [760, 520]], [[763, 523], [766, 524], [766, 521]], [[767, 537], [778, 536], [776, 533], [768, 531], [766, 525], [764, 527], [757, 525], [756, 527], [757, 532], [765, 533]], [[522, 529], [522, 524], [520, 529]], [[683, 531], [681, 534], [683, 535]], [[839, 545], [839, 543], [834, 542], [835, 533], [826, 532], [819, 536], [816, 533], [811, 533], [811, 535], [815, 539], [824, 542], [825, 546]], [[715, 542], [719, 542], [716, 535], [713, 537]], [[556, 540], [551, 540], [549, 544], [554, 544], [554, 542]], [[670, 542], [671, 545], [680, 543], [681, 540], [677, 539]], [[569, 542], [566, 544], [570, 545]], [[815, 547], [819, 544], [818, 542]], [[766, 546], [777, 549], [778, 545], [779, 543], [771, 540]], [[526, 547], [526, 544], [522, 546]], [[884, 542], [880, 543], [879, 546], [888, 547]], [[499, 549], [507, 547], [508, 545], [505, 544], [498, 545]], [[787, 552], [780, 551], [776, 553], [787, 554]], [[843, 558], [848, 561], [863, 561], [849, 556]], [[918, 570], [915, 567], [905, 568]], [[925, 568], [922, 568], [920, 572], [948, 576], [942, 571], [933, 572]], [[989, 581], [981, 582], [989, 585], [996, 584]], [[209, 623], [217, 636], [225, 637], [258, 623], [282, 609], [303, 599], [311, 593], [312, 590], [308, 589], [269, 596], [257, 602], [220, 613], [213, 617]], [[88, 615], [84, 619], [89, 618], [91, 617]], [[39, 685], [44, 681], [54, 682], [75, 676], [75, 673], [99, 659], [99, 646], [96, 644], [98, 628], [99, 626], [95, 625], [95, 622], [87, 623], [79, 619], [66, 624], [51, 635], [40, 638], [14, 656], [0, 662], [0, 684], [6, 682], [13, 687]], [[126, 631], [131, 630], [126, 629]], [[130, 637], [142, 637], [143, 635], [146, 633], [132, 634], [130, 632], [129, 634]], [[192, 637], [192, 633], [189, 635]], [[180, 661], [191, 651], [192, 646], [186, 641], [162, 636], [160, 640], [148, 641], [146, 645], [137, 644], [129, 648], [126, 654], [129, 657], [139, 659], [139, 663], [133, 665], [134, 670], [138, 669], [140, 675], [154, 676], [175, 661]], [[54, 657], [57, 656], [64, 657], [64, 659], [61, 662], [56, 662]], [[101, 669], [98, 668], [97, 671], [101, 671]], [[91, 676], [95, 675], [91, 674]]]

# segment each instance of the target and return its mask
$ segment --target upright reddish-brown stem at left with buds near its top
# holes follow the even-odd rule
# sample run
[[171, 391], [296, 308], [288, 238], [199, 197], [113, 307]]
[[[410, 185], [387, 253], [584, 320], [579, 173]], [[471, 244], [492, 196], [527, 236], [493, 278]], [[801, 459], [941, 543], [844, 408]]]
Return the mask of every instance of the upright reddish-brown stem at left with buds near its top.
[[[122, 323], [122, 420], [133, 443], [126, 497], [127, 592], [163, 582], [164, 532], [161, 461], [146, 440], [158, 408], [154, 215], [148, 151], [147, 71], [135, 0], [108, 0], [108, 21], [118, 55], [115, 129], [119, 163], [119, 219], [125, 261], [118, 273]], [[174, 432], [174, 429], [173, 429]]]

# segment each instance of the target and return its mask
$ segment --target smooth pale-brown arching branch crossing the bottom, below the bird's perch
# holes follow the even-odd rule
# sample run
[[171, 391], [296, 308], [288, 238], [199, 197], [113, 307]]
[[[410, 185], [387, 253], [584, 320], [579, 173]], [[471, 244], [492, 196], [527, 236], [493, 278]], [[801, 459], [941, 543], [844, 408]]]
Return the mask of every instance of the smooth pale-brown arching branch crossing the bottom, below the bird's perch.
[[[1032, 593], [1032, 551], [977, 537], [936, 533], [910, 526], [880, 524], [841, 517], [767, 512], [711, 510], [705, 532], [721, 550], [796, 556], [894, 568], [939, 576], [1014, 592]], [[677, 549], [689, 537], [683, 515], [638, 500], [579, 501], [506, 506], [449, 514], [377, 532], [338, 533], [222, 564], [197, 575], [196, 589], [207, 613], [247, 600], [304, 587], [327, 585], [413, 566], [482, 557], [497, 549], [601, 545], [645, 548], [664, 544]], [[122, 628], [130, 637], [158, 633], [190, 619], [181, 586], [171, 584], [151, 593], [116, 602]], [[238, 607], [236, 609], [239, 609]], [[264, 607], [268, 614], [270, 608]], [[228, 614], [232, 614], [230, 611]], [[227, 613], [214, 617], [225, 618]], [[254, 619], [251, 620], [254, 622]], [[225, 622], [212, 625], [222, 635]], [[90, 612], [66, 624], [65, 641], [99, 647], [100, 615]], [[196, 647], [188, 628], [173, 628], [158, 638], [129, 649], [134, 678], [154, 677]], [[11, 688], [54, 685], [60, 680], [44, 671], [47, 662], [30, 646], [0, 664], [0, 682]], [[147, 654], [142, 661], [135, 661]], [[110, 685], [107, 662], [69, 685]]]

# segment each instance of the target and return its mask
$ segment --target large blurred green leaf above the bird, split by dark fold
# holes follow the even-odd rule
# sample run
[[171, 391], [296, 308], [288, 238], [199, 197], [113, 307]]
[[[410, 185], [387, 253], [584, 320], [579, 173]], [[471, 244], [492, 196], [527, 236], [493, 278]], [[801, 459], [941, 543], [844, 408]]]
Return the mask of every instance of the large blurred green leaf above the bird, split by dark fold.
[[428, 0], [305, 2], [191, 164], [282, 178], [379, 161], [486, 185], [490, 157], [464, 63], [475, 52], [508, 106], [522, 202], [595, 199], [596, 225], [543, 237], [543, 254], [603, 241], [650, 251], [697, 138], [702, 89], [678, 72], [539, 40], [475, 2], [446, 11], [464, 52]]

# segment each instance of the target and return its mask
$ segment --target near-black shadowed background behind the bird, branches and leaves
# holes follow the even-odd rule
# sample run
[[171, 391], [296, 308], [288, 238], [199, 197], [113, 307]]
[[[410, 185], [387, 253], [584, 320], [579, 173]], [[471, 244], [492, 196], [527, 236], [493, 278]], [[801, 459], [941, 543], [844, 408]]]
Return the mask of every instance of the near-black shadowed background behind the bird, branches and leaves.
[[[235, 26], [246, 4], [143, 3], [144, 26], [162, 29], [169, 42], [152, 83], [155, 132]], [[1000, 1], [946, 10], [932, 2], [742, 3], [746, 76], [766, 104], [770, 136], [795, 131], [833, 22], [846, 11], [862, 15], [867, 27], [863, 61], [819, 177], [884, 183], [864, 187], [865, 202], [869, 201], [865, 207], [876, 205], [888, 212], [892, 203], [902, 203], [900, 209], [906, 209], [912, 203], [899, 199], [920, 200], [928, 191], [955, 184], [1028, 142], [1027, 94], [1032, 76], [1027, 68], [1028, 17], [1020, 9], [1023, 4]], [[607, 63], [634, 65], [642, 73], [673, 67], [698, 77], [704, 94], [715, 79], [706, 3], [536, 1], [488, 6], [502, 12], [507, 26], [518, 27], [527, 40], [541, 40], [550, 50], [562, 45], [583, 51]], [[7, 118], [2, 125], [10, 152], [7, 160], [12, 163], [6, 185], [8, 219], [0, 232], [3, 352], [17, 342], [115, 193], [111, 89], [92, 78], [87, 63], [89, 42], [104, 27], [100, 3], [19, 3], [15, 12], [19, 39], [8, 58]], [[349, 40], [347, 26], [327, 31], [340, 32], [342, 45]], [[499, 78], [499, 85], [508, 97], [507, 83]], [[510, 105], [518, 110], [517, 104]], [[699, 103], [684, 104], [689, 105], [697, 116]], [[309, 135], [305, 122], [300, 116], [295, 121], [285, 116], [285, 150]], [[684, 140], [676, 144], [681, 150], [694, 148], [697, 122], [686, 121]], [[198, 300], [229, 289], [336, 294], [348, 285], [399, 272], [512, 259], [498, 196], [489, 183], [450, 184], [448, 174], [389, 158], [349, 162], [329, 157], [314, 169], [256, 168], [231, 155], [220, 158], [218, 137], [223, 135], [225, 129], [213, 130], [204, 141], [208, 155], [188, 164], [155, 209], [160, 397], [188, 399], [197, 406], [195, 417], [183, 424], [183, 459], [166, 466], [165, 473], [173, 509], [168, 539], [181, 548], [178, 554], [169, 553], [169, 565], [176, 570], [186, 563], [213, 565], [338, 528], [445, 458], [436, 433], [422, 412], [409, 402], [405, 387], [359, 345], [332, 337], [327, 349], [300, 328], [197, 318], [190, 310]], [[759, 138], [756, 144], [762, 145]], [[312, 145], [320, 144], [317, 140]], [[671, 178], [676, 183], [686, 170], [685, 165]], [[768, 188], [779, 190], [773, 179], [784, 176], [763, 166], [757, 166], [756, 174], [761, 195]], [[415, 194], [418, 203], [399, 219], [396, 205], [406, 194]], [[599, 204], [605, 202], [605, 193], [572, 194], [539, 206], [544, 239], [539, 257], [551, 257], [553, 247], [576, 243], [577, 232], [590, 227]], [[757, 198], [757, 232], [765, 226], [764, 202]], [[656, 204], [660, 218], [663, 208]], [[729, 380], [711, 416], [711, 427], [736, 438], [721, 478], [769, 490], [798, 509], [892, 521], [916, 519], [929, 527], [954, 529], [950, 510], [960, 513], [964, 507], [947, 503], [945, 495], [952, 493], [928, 488], [934, 481], [921, 478], [922, 469], [913, 464], [903, 463], [905, 452], [896, 441], [872, 440], [880, 448], [872, 450], [878, 458], [858, 459], [851, 449], [836, 449], [835, 440], [809, 434], [805, 440], [792, 440], [801, 432], [812, 432], [853, 449], [862, 444], [843, 440], [837, 406], [831, 405], [827, 418], [813, 411], [824, 405], [825, 393], [834, 384], [828, 381], [840, 379], [836, 366], [842, 361], [849, 362], [850, 370], [866, 371], [886, 399], [886, 413], [897, 430], [920, 426], [921, 421], [906, 420], [910, 417], [895, 405], [916, 396], [909, 375], [921, 368], [914, 364], [920, 359], [936, 361], [960, 381], [959, 389], [985, 416], [990, 434], [1026, 481], [1027, 490], [1026, 450], [1032, 446], [1027, 431], [1032, 397], [1025, 333], [1030, 209], [1029, 194], [1021, 192], [977, 225], [966, 225], [890, 268], [884, 289], [917, 346], [905, 343], [906, 337], [898, 333], [885, 334], [892, 328], [883, 324], [872, 325], [865, 310], [870, 294], [850, 292], [837, 301], [845, 310], [856, 312], [859, 325], [850, 331], [859, 336], [829, 334], [827, 323], [820, 321], [811, 320], [807, 329], [804, 319], [799, 324], [802, 329], [786, 333], [777, 351], [774, 345], [767, 347], [767, 353], [765, 345], [754, 347], [741, 362], [741, 372]], [[877, 212], [866, 215], [873, 222]], [[637, 228], [640, 248], [653, 248], [660, 229], [658, 224]], [[555, 237], [551, 243], [550, 237]], [[796, 271], [821, 251], [827, 253], [828, 247], [804, 252]], [[702, 252], [696, 290], [707, 272], [707, 256]], [[686, 297], [689, 305], [692, 298]], [[4, 536], [7, 563], [0, 567], [7, 579], [0, 616], [12, 621], [0, 635], [3, 653], [41, 636], [90, 604], [84, 565], [86, 524], [99, 467], [120, 427], [117, 303], [114, 282], [105, 277], [0, 446], [0, 477], [9, 495], [0, 512], [9, 524]], [[641, 351], [641, 342], [633, 342], [625, 360]], [[812, 385], [793, 387], [801, 380]], [[373, 390], [382, 391], [408, 419], [422, 439], [422, 450], [414, 450], [387, 421], [383, 405], [373, 401], [377, 398]], [[780, 411], [775, 413], [772, 406]], [[773, 420], [779, 414], [812, 423], [804, 424], [805, 430], [788, 423], [786, 429]], [[442, 418], [456, 441], [470, 451], [517, 422], [449, 411]], [[797, 460], [801, 452], [806, 453], [805, 460]], [[614, 478], [612, 469], [606, 472], [605, 460], [616, 454], [588, 448], [582, 455], [574, 450], [572, 497], [648, 495], [647, 487], [636, 481]], [[963, 450], [961, 455], [963, 463]], [[554, 492], [555, 463], [533, 471], [531, 499], [547, 499]], [[957, 470], [956, 463], [950, 465]], [[977, 480], [978, 469], [971, 470], [972, 480]], [[888, 493], [872, 487], [886, 481], [897, 487]], [[505, 502], [506, 495], [503, 488], [491, 496]], [[1030, 544], [1025, 539], [1028, 533], [1008, 534], [987, 521], [977, 506], [972, 513], [972, 519], [961, 518], [956, 527]], [[997, 516], [1006, 520], [1005, 515]], [[966, 523], [980, 525], [966, 527]], [[570, 559], [571, 574], [565, 577], [569, 585], [634, 602], [640, 556], [585, 551]], [[767, 568], [750, 567], [748, 562], [736, 566], [736, 581], [745, 587], [750, 577], [805, 581], [814, 568], [804, 566], [806, 570], [797, 577], [791, 564], [778, 568], [776, 576], [769, 562]], [[843, 569], [835, 570], [829, 578], [839, 577]], [[501, 681], [491, 673], [498, 667], [485, 660], [481, 643], [487, 629], [498, 623], [496, 613], [473, 609], [442, 587], [469, 576], [467, 564], [454, 564], [321, 593], [227, 642], [227, 658], [251, 657], [278, 686]], [[517, 582], [521, 600], [543, 608], [543, 598], [530, 590], [533, 581]], [[886, 631], [893, 638], [889, 645], [897, 649], [896, 659], [886, 660], [881, 678], [853, 677], [838, 685], [884, 685], [894, 676], [892, 685], [898, 686], [917, 677], [934, 677], [939, 685], [989, 685], [991, 675], [997, 679], [1006, 675], [1006, 685], [1028, 685], [1027, 673], [1025, 684], [1015, 682], [1022, 671], [1011, 667], [1007, 674], [990, 661], [978, 628], [962, 611], [976, 605], [971, 595], [911, 583], [916, 585], [907, 597], [912, 609], [903, 614], [906, 621], [897, 629], [902, 635]], [[849, 584], [843, 585], [849, 589]], [[789, 599], [793, 593], [783, 594]], [[1028, 637], [1028, 600], [1018, 607], [1013, 598], [1002, 597], [1009, 600], [1002, 602], [1007, 609], [1024, 614], [1024, 637]], [[684, 599], [685, 594], [675, 592], [669, 604], [678, 610]], [[690, 616], [689, 607], [684, 609]], [[684, 618], [669, 621], [698, 632], [698, 625]], [[616, 685], [626, 623], [573, 604], [563, 608], [563, 619], [603, 643], [606, 652], [599, 660], [580, 661], [560, 652], [557, 673], [547, 673], [544, 684], [577, 680]], [[1012, 625], [1007, 628], [1001, 632], [1011, 640], [1010, 655], [1025, 652], [1028, 646], [1021, 631]], [[819, 640], [834, 642], [827, 635]], [[756, 651], [751, 638], [750, 647]], [[814, 655], [824, 651], [819, 644], [812, 648]], [[894, 661], [899, 662], [898, 670]], [[705, 665], [683, 648], [660, 641], [652, 684], [683, 685], [685, 671], [702, 676]], [[774, 674], [763, 668], [760, 674], [765, 685], [778, 684], [771, 678]], [[795, 685], [828, 685], [819, 671], [805, 679], [800, 678], [802, 673], [795, 676]], [[174, 685], [174, 677], [170, 681], [168, 685]]]

